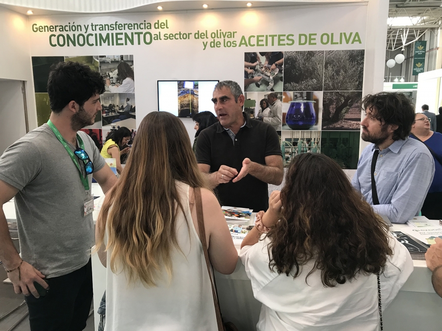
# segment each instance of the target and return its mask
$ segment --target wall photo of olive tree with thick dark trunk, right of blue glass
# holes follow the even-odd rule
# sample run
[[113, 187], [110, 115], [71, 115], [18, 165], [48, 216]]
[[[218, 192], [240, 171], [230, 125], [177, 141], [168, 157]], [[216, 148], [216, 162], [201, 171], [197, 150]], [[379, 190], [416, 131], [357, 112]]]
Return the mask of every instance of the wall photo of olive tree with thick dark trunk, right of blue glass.
[[361, 91], [324, 92], [322, 129], [359, 131], [361, 99]]

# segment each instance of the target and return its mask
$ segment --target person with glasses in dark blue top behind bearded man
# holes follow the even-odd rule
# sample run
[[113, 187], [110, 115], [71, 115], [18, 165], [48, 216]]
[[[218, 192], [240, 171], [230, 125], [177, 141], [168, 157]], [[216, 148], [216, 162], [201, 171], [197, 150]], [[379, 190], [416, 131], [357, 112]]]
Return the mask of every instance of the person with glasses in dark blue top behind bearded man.
[[430, 220], [440, 220], [442, 219], [440, 205], [442, 202], [442, 134], [430, 130], [428, 117], [417, 113], [410, 137], [422, 142], [434, 158], [434, 178], [421, 208], [422, 216]]

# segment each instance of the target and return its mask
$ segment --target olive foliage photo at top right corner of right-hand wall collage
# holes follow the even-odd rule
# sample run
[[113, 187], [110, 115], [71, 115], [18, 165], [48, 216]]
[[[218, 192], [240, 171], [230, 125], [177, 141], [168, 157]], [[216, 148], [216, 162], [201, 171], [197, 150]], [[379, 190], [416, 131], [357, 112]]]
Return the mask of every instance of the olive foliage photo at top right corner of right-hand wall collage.
[[326, 51], [324, 91], [362, 91], [364, 50]]

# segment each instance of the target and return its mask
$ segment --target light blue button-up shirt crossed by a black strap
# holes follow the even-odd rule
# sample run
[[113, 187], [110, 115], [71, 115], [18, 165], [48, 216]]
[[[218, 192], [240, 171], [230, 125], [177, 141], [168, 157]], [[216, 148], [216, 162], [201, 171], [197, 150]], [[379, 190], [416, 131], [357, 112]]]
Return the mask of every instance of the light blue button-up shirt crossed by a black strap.
[[370, 144], [362, 151], [352, 185], [362, 193], [376, 213], [393, 223], [406, 223], [419, 214], [434, 176], [434, 160], [420, 141], [397, 140], [379, 152], [374, 172], [379, 204], [371, 196], [371, 160], [378, 147]]

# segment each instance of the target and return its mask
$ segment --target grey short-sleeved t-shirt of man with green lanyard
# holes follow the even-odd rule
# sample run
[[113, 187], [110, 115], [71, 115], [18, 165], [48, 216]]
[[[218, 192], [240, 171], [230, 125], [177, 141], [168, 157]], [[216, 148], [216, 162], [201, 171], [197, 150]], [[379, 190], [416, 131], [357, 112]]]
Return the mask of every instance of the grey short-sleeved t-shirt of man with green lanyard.
[[[94, 171], [103, 168], [92, 139], [78, 134]], [[79, 164], [84, 174], [83, 161]], [[83, 267], [94, 245], [92, 213], [83, 216], [86, 191], [78, 168], [47, 124], [1, 155], [0, 179], [19, 189], [14, 200], [22, 258], [48, 278]], [[88, 179], [91, 187], [92, 175]]]

